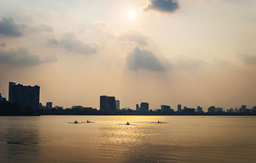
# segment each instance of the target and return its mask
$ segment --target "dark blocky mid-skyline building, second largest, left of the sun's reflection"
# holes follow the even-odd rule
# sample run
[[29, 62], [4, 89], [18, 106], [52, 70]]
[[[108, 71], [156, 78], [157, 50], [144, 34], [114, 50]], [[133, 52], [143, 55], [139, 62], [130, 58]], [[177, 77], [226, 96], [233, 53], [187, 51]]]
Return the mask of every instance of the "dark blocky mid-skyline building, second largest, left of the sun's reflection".
[[115, 112], [116, 99], [110, 96], [100, 96], [100, 111]]

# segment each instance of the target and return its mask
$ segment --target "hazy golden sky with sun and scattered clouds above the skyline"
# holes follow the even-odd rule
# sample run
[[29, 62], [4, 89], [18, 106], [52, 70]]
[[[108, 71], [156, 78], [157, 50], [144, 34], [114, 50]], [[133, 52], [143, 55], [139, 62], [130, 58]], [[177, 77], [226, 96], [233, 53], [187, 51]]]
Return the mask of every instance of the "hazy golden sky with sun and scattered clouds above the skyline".
[[122, 108], [256, 106], [254, 0], [0, 0], [0, 93]]

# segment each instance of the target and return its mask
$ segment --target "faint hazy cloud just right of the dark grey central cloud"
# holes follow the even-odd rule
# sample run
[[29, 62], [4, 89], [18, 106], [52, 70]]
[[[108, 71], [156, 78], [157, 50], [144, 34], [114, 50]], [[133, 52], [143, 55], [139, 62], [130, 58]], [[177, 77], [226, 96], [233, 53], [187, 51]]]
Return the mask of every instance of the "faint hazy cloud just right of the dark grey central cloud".
[[172, 69], [195, 69], [205, 64], [202, 59], [192, 59], [188, 57], [176, 57], [170, 60], [170, 67]]

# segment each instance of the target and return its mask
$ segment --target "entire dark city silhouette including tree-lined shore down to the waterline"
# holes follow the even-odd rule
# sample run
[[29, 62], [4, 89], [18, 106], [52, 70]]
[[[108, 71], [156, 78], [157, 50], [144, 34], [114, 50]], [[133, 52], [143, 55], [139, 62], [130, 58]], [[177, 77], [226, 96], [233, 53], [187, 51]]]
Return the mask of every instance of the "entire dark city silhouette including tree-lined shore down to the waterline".
[[45, 105], [40, 103], [40, 86], [38, 85], [31, 87], [9, 82], [8, 92], [8, 101], [0, 94], [1, 115], [19, 115], [15, 111], [13, 113], [10, 111], [12, 105], [20, 108], [20, 113], [27, 111], [35, 115], [256, 115], [256, 106], [249, 109], [246, 105], [227, 110], [210, 106], [207, 111], [204, 111], [200, 106], [197, 108], [183, 106], [182, 108], [182, 104], [178, 104], [177, 108], [162, 104], [159, 108], [152, 109], [149, 103], [141, 102], [135, 104], [135, 108], [120, 108], [120, 101], [114, 96], [100, 96], [99, 109], [84, 106], [63, 108], [63, 106], [53, 106], [52, 102], [47, 102]]

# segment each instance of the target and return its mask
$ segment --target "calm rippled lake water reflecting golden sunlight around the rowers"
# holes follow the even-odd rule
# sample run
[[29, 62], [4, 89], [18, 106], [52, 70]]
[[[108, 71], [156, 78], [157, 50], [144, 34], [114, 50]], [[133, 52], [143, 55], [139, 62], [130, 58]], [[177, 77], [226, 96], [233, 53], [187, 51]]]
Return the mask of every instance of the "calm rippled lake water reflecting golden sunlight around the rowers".
[[[74, 120], [95, 123], [67, 123]], [[256, 117], [0, 117], [0, 124], [0, 162], [256, 162]]]

